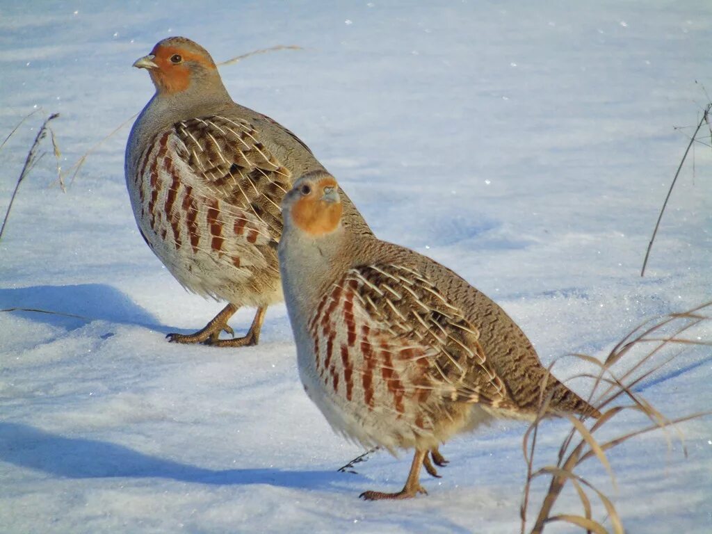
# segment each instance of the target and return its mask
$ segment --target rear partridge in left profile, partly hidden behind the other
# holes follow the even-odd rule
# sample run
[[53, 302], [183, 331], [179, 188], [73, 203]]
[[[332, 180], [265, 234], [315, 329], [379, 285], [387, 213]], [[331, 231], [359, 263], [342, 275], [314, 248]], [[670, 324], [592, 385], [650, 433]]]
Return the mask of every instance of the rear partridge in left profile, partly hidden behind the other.
[[[184, 37], [159, 41], [133, 66], [155, 95], [129, 135], [125, 178], [138, 229], [192, 293], [227, 305], [201, 330], [171, 342], [256, 345], [268, 305], [282, 300], [276, 241], [281, 200], [293, 177], [323, 169], [293, 132], [235, 103], [208, 51]], [[347, 224], [371, 230], [342, 193]], [[243, 337], [228, 320], [257, 308]], [[221, 331], [233, 335], [220, 339]]]

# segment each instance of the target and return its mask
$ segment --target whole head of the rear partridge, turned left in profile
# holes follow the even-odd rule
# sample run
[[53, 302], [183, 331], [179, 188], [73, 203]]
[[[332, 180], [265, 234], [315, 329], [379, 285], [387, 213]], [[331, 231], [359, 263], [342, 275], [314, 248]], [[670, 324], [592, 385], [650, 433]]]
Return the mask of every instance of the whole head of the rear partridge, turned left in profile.
[[148, 56], [133, 64], [145, 68], [156, 86], [157, 93], [173, 95], [191, 86], [205, 88], [220, 75], [208, 51], [185, 37], [169, 37], [159, 41]]

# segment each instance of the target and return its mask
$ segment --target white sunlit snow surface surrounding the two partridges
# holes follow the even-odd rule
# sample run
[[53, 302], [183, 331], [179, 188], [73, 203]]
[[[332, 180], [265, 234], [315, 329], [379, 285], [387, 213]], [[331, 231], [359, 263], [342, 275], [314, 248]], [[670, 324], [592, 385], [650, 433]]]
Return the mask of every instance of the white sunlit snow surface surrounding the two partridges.
[[[60, 112], [68, 169], [145, 105], [152, 85], [131, 63], [176, 34], [217, 61], [303, 46], [222, 68], [231, 94], [308, 142], [379, 236], [501, 303], [545, 364], [603, 357], [644, 319], [711, 300], [703, 145], [639, 276], [709, 101], [701, 84], [712, 90], [708, 0], [4, 1], [1, 137], [36, 106]], [[0, 206], [39, 122], [0, 152]], [[283, 305], [258, 347], [164, 341], [221, 303], [184, 292], [137, 233], [127, 133], [100, 145], [66, 193], [44, 157], [0, 241], [0, 308], [83, 317], [0, 313], [0, 531], [518, 532], [524, 424], [446, 444], [451, 464], [443, 478], [424, 475], [427, 497], [365, 503], [365, 489], [402, 485], [409, 458], [376, 454], [357, 475], [337, 473], [360, 449], [303, 393]], [[236, 315], [236, 330], [252, 313]], [[696, 335], [712, 340], [709, 327]], [[709, 409], [711, 368], [708, 348], [686, 350], [644, 394], [670, 417]], [[580, 370], [571, 359], [555, 367]], [[600, 466], [585, 471], [630, 532], [712, 532], [712, 421], [681, 429], [686, 459], [660, 433], [610, 452], [618, 493]], [[541, 465], [566, 430], [545, 424]], [[559, 511], [580, 513], [575, 496]]]

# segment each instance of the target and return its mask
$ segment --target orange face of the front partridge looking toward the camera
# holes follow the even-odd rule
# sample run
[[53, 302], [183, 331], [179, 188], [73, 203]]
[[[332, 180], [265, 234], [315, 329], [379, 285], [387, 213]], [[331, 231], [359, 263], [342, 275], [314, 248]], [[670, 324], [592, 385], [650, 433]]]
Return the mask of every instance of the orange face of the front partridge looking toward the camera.
[[290, 210], [295, 226], [315, 237], [337, 229], [342, 206], [339, 185], [333, 177], [300, 179], [293, 191], [298, 195]]

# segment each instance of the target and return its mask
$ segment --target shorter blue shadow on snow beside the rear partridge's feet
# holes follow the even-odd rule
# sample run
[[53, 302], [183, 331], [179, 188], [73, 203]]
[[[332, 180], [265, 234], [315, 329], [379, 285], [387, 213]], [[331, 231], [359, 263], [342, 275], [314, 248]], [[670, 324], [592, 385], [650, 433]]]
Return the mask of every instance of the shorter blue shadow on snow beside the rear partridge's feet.
[[[53, 313], [18, 311], [27, 318], [73, 330], [92, 320], [160, 328], [158, 320], [127, 295], [101, 283], [73, 286], [0, 288], [0, 309], [28, 308]], [[73, 317], [75, 316], [75, 317]]]

